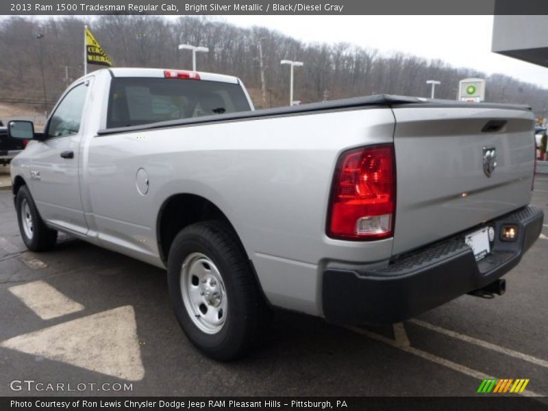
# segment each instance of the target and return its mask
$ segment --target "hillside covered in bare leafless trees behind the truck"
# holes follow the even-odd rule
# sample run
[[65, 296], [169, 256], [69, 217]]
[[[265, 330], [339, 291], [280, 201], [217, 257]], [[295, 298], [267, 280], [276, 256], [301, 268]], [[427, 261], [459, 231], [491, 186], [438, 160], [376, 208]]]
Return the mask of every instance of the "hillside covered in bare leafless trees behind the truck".
[[[436, 97], [455, 99], [460, 79], [482, 77], [487, 82], [486, 101], [528, 104], [536, 114], [548, 114], [548, 90], [503, 74], [487, 76], [439, 60], [347, 43], [305, 44], [269, 29], [242, 28], [194, 16], [174, 20], [145, 15], [49, 18], [40, 20], [40, 27], [31, 18], [1, 18], [0, 55], [10, 58], [0, 59], [0, 99], [32, 100], [33, 107], [43, 110], [41, 102], [46, 97], [51, 108], [66, 84], [83, 73], [86, 23], [116, 66], [188, 69], [191, 53], [179, 51], [177, 45], [206, 46], [210, 51], [199, 53], [198, 69], [237, 75], [251, 89], [258, 108], [262, 107], [261, 43], [267, 107], [288, 103], [289, 68], [279, 61], [290, 59], [304, 62], [295, 69], [295, 99], [303, 103], [379, 93], [428, 97], [427, 79], [441, 82]], [[99, 68], [89, 66], [90, 70]]]

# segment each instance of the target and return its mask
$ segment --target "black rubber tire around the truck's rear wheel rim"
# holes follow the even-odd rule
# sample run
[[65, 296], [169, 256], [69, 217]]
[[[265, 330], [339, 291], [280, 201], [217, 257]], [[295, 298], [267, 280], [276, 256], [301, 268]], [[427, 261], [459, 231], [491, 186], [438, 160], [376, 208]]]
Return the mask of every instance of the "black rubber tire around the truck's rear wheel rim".
[[[197, 253], [214, 264], [224, 282], [227, 314], [215, 334], [199, 328], [183, 300], [182, 264]], [[225, 223], [196, 223], [177, 234], [169, 251], [168, 285], [179, 324], [188, 339], [206, 356], [219, 361], [234, 360], [247, 353], [260, 339], [268, 319], [266, 304], [245, 251]], [[199, 313], [194, 316], [199, 317]]]

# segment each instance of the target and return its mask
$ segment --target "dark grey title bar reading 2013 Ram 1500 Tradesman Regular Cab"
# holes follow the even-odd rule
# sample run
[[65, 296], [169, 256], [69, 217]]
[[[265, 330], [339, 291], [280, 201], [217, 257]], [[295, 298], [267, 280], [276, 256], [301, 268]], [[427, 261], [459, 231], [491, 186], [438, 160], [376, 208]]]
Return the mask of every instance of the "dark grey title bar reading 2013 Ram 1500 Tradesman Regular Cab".
[[[546, 0], [7, 0], [3, 15], [548, 14]], [[412, 19], [409, 21], [413, 25]], [[387, 27], [390, 29], [390, 27]], [[473, 29], [473, 27], [471, 27]]]

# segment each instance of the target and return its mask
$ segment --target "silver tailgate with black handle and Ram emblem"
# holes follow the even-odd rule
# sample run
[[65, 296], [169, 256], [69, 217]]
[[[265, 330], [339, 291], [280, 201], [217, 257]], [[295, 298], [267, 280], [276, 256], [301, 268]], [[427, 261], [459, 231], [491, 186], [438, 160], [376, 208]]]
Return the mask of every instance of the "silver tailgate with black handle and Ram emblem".
[[[530, 110], [429, 105], [393, 111], [397, 164], [393, 254], [462, 232], [530, 202], [534, 174]], [[493, 149], [497, 164], [488, 175], [484, 157], [488, 160]]]

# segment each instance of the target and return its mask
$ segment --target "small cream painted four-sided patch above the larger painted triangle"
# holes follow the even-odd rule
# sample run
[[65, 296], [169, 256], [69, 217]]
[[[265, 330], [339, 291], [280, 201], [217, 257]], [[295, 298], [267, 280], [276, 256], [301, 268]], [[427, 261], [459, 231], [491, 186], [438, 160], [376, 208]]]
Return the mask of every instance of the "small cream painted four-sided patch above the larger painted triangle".
[[43, 281], [13, 286], [8, 288], [8, 290], [21, 299], [42, 320], [55, 319], [66, 314], [84, 310], [82, 304], [71, 300]]

